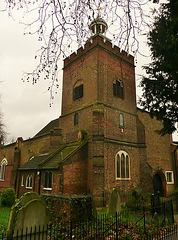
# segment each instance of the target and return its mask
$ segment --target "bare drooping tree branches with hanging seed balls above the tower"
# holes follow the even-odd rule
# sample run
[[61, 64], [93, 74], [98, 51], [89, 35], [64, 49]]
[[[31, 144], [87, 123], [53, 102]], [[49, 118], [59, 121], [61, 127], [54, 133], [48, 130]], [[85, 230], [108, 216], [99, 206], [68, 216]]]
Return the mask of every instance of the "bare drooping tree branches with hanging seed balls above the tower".
[[[4, 0], [9, 16], [23, 12], [25, 34], [37, 34], [41, 49], [32, 72], [24, 73], [23, 81], [33, 84], [40, 78], [50, 81], [51, 100], [59, 87], [59, 60], [85, 44], [90, 37], [89, 25], [102, 8], [101, 17], [108, 24], [113, 44], [135, 56], [139, 50], [137, 34], [145, 33], [150, 16], [145, 13], [149, 0]], [[129, 39], [129, 40], [128, 40]]]

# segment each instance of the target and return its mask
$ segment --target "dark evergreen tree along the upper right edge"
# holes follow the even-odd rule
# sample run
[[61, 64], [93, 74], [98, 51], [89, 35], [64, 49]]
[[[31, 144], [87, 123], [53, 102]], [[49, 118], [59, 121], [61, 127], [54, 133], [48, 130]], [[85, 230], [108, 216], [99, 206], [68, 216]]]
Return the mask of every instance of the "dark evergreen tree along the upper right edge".
[[158, 133], [173, 133], [178, 121], [178, 1], [163, 4], [148, 35], [152, 62], [145, 66], [147, 73], [141, 81], [141, 106], [151, 116], [162, 120]]

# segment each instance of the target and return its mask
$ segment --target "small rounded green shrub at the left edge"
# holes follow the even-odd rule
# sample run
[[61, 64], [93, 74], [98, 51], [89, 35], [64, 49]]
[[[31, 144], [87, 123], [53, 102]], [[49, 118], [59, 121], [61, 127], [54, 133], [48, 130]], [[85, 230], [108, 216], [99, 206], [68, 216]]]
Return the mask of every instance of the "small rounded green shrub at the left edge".
[[11, 207], [15, 203], [15, 191], [13, 188], [7, 188], [2, 192], [1, 204], [4, 207]]

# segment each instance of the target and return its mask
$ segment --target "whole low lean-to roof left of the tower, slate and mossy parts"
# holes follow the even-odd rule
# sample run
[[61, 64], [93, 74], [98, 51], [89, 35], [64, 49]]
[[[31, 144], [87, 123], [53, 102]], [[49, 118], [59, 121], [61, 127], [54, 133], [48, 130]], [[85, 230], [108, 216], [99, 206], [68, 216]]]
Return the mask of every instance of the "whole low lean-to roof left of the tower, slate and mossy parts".
[[56, 169], [60, 163], [65, 162], [87, 142], [88, 140], [82, 141], [80, 144], [78, 142], [64, 144], [51, 154], [38, 155], [31, 158], [19, 170]]

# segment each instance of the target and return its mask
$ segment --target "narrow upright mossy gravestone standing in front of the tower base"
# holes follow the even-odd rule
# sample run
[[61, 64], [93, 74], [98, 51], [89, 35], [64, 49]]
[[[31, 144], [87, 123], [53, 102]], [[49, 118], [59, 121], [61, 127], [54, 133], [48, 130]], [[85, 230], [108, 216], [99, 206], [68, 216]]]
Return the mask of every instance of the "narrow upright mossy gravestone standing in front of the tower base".
[[113, 188], [112, 192], [110, 193], [109, 196], [109, 208], [108, 208], [108, 213], [109, 214], [114, 214], [118, 213], [121, 211], [121, 198], [119, 193], [115, 188]]

